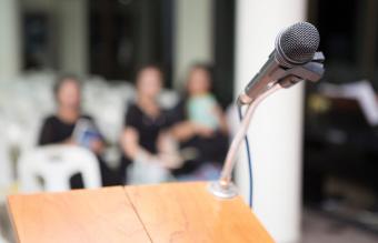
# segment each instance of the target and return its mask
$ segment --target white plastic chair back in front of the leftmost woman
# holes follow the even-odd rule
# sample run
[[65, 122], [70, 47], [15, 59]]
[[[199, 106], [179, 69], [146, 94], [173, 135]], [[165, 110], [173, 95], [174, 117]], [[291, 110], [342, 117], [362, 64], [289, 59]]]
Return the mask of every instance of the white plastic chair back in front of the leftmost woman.
[[101, 186], [97, 158], [76, 145], [47, 145], [30, 150], [21, 155], [18, 173], [23, 192], [70, 190], [70, 179], [77, 173], [81, 174], [84, 188]]

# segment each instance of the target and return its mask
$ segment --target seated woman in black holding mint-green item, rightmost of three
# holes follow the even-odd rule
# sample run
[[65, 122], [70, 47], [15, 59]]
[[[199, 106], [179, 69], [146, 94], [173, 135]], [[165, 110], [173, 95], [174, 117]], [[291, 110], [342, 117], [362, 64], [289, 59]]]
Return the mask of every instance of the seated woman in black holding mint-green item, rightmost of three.
[[[171, 131], [181, 142], [182, 156], [189, 158], [187, 151], [192, 153], [192, 159], [173, 172], [177, 176], [193, 173], [209, 165], [215, 165], [219, 171], [225, 160], [228, 150], [228, 128], [223, 112], [210, 90], [209, 69], [203, 64], [193, 65], [187, 80], [186, 99], [172, 113], [176, 124]], [[218, 173], [199, 179], [212, 176], [218, 176]]]

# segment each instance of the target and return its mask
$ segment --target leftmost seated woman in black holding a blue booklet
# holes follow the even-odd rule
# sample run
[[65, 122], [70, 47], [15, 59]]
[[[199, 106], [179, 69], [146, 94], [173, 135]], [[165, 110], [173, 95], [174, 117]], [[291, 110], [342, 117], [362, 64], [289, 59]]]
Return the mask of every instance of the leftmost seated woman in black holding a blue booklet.
[[[78, 79], [70, 75], [60, 78], [54, 84], [53, 92], [58, 110], [56, 114], [44, 119], [39, 145], [78, 144], [87, 146], [98, 156], [102, 184], [115, 185], [121, 183], [119, 176], [101, 159], [105, 144], [101, 134], [96, 129], [93, 119], [81, 112], [81, 87]], [[89, 131], [91, 134], [83, 135], [84, 129], [87, 133]], [[81, 175], [72, 176], [71, 188], [78, 189], [82, 186]]]

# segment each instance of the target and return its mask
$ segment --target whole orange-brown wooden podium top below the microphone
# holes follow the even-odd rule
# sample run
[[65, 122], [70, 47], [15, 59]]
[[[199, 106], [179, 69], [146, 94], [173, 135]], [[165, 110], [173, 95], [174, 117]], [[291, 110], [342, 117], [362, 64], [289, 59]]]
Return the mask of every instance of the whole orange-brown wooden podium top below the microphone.
[[273, 242], [240, 196], [207, 183], [115, 186], [10, 195], [20, 243]]

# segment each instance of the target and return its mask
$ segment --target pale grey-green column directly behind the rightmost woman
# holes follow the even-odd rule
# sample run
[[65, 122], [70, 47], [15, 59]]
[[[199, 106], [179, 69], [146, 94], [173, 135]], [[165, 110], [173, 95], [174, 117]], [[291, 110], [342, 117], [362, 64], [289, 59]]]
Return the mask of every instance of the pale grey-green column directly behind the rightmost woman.
[[212, 0], [175, 1], [173, 87], [182, 85], [193, 62], [212, 62]]

